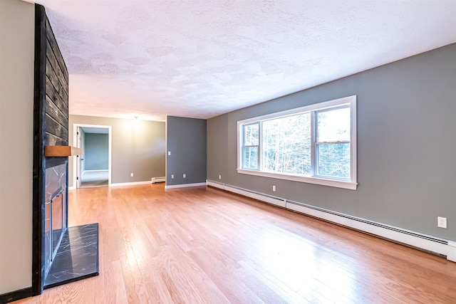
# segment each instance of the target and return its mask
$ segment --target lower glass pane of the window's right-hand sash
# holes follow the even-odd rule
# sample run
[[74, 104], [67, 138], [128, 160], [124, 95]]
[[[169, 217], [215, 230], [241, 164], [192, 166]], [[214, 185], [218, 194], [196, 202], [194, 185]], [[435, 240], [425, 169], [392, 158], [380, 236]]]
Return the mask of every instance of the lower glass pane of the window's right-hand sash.
[[350, 144], [316, 145], [317, 174], [350, 178]]

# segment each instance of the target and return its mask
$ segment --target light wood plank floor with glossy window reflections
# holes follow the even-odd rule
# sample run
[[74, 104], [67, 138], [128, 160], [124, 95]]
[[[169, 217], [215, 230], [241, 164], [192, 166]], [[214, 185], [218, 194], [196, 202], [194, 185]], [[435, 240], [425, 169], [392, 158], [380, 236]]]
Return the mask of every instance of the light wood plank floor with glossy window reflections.
[[456, 263], [218, 189], [70, 192], [100, 276], [17, 303], [456, 303]]

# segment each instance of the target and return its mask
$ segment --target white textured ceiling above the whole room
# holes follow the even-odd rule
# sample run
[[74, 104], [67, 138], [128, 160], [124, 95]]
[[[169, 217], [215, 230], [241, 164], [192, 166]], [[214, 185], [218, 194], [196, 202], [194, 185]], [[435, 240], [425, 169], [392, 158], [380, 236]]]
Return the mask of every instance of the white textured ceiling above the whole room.
[[456, 0], [36, 0], [70, 113], [209, 118], [456, 42]]

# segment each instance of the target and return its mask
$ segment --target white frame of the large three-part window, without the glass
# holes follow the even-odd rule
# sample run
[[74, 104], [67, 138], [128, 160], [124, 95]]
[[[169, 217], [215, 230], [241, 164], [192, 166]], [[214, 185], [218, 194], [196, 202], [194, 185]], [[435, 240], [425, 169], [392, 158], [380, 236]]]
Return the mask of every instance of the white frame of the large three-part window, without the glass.
[[[261, 171], [261, 121], [262, 120], [271, 120], [274, 118], [285, 117], [290, 115], [296, 115], [299, 113], [305, 112], [318, 112], [321, 110], [342, 108], [344, 106], [350, 107], [350, 116], [351, 116], [351, 135], [350, 135], [350, 173], [351, 176], [349, 179], [338, 179], [336, 177], [323, 177], [315, 174], [316, 172], [316, 142], [314, 139], [314, 124], [312, 124], [312, 148], [311, 148], [311, 174], [310, 175], [301, 175], [301, 174], [289, 174], [289, 173], [278, 173], [278, 172], [265, 172]], [[252, 169], [243, 169], [242, 160], [243, 160], [243, 126], [249, 125], [255, 122], [259, 122], [259, 170]], [[291, 110], [285, 110], [281, 112], [275, 112], [268, 115], [262, 115], [259, 117], [252, 117], [247, 120], [239, 120], [237, 122], [237, 172], [241, 174], [250, 174], [256, 175], [259, 177], [271, 177], [275, 179], [286, 179], [295, 182], [306, 182], [309, 184], [321, 184], [324, 186], [338, 187], [344, 189], [356, 190], [358, 185], [356, 177], [356, 95], [348, 96], [345, 98], [338, 98], [336, 100], [329, 100], [323, 103], [316, 103], [314, 105], [307, 105], [301, 108], [295, 108]]]

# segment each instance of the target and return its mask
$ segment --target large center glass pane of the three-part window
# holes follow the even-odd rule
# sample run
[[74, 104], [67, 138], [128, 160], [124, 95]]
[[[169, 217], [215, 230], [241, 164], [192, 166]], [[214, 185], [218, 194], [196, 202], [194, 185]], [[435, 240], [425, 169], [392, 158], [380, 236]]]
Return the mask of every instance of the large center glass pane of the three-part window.
[[263, 122], [261, 164], [264, 171], [311, 173], [310, 119], [310, 113], [305, 113]]

